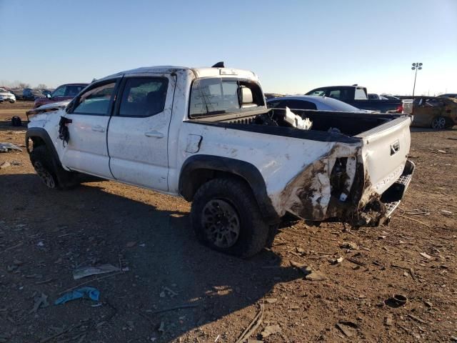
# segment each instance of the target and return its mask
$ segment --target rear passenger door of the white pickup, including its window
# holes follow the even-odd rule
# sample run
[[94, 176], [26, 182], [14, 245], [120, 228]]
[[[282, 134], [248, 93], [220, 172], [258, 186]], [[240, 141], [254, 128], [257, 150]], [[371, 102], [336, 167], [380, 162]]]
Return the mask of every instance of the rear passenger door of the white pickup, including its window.
[[168, 131], [175, 84], [170, 74], [124, 77], [108, 131], [109, 165], [119, 181], [168, 191]]

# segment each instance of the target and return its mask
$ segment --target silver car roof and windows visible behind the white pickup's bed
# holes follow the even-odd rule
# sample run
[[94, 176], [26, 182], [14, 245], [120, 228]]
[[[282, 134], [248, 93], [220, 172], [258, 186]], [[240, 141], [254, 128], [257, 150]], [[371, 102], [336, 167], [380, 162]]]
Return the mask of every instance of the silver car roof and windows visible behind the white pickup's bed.
[[328, 98], [326, 96], [301, 95], [281, 96], [280, 98], [268, 99], [266, 104], [270, 108], [285, 109], [286, 106], [293, 109], [317, 109], [318, 111], [343, 111], [373, 113], [368, 109], [358, 109], [346, 102]]

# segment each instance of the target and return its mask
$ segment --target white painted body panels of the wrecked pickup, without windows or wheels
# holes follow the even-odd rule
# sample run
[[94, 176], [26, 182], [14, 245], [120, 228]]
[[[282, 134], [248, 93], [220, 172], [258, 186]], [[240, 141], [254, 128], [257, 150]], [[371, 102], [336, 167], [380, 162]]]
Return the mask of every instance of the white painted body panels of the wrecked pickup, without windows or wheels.
[[[103, 158], [96, 154], [85, 155], [84, 151], [68, 153], [72, 139], [84, 138], [70, 135], [68, 146], [58, 138], [60, 117], [70, 117], [65, 109], [36, 114], [31, 118], [29, 128], [46, 129], [65, 169], [174, 195], [179, 195], [181, 167], [190, 156], [204, 154], [246, 161], [263, 177], [266, 193], [278, 217], [286, 211], [314, 221], [340, 216], [338, 208], [331, 208], [331, 172], [337, 159], [348, 159], [345, 188], [338, 194], [341, 206], [356, 182], [358, 166], [363, 166], [363, 175], [359, 177], [364, 180], [358, 181], [363, 194], [356, 207], [363, 207], [376, 194], [381, 195], [403, 172], [410, 144], [411, 118], [408, 116], [364, 132], [353, 143], [277, 136], [189, 119], [189, 95], [195, 79], [236, 77], [258, 82], [258, 77], [251, 71], [229, 69], [227, 73], [224, 75], [219, 68], [159, 66], [122, 71], [98, 80], [135, 75], [161, 75], [169, 79], [165, 109], [161, 114], [141, 121], [111, 117], [111, 122], [106, 124], [108, 149], [106, 154], [100, 154]], [[87, 124], [91, 126], [88, 120]], [[149, 137], [148, 132], [156, 132], [156, 135]], [[91, 135], [96, 134], [99, 132], [87, 131], [86, 149], [91, 149]], [[97, 144], [101, 144], [100, 141]], [[393, 154], [389, 145], [396, 150]]]

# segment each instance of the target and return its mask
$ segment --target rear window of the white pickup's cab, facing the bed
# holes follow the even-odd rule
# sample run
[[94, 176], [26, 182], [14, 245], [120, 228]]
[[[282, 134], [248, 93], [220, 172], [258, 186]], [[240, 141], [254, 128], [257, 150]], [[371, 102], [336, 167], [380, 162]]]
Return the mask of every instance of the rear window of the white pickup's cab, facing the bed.
[[255, 82], [236, 79], [196, 79], [192, 84], [189, 116], [211, 116], [258, 109], [265, 101]]

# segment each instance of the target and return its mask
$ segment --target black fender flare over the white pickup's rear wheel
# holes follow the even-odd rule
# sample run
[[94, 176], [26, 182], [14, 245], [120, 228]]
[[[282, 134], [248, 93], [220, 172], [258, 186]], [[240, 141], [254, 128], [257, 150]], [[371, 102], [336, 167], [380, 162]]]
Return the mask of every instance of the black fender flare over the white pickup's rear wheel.
[[248, 183], [249, 187], [251, 187], [258, 207], [266, 222], [269, 224], [276, 224], [280, 221], [280, 218], [271, 203], [271, 199], [266, 192], [266, 184], [261, 172], [259, 172], [253, 164], [239, 159], [204, 154], [190, 156], [186, 159], [181, 167], [181, 173], [179, 174], [179, 194], [187, 201], [191, 201], [196, 192], [196, 189], [193, 187], [192, 174], [199, 169], [206, 169], [213, 172], [225, 172], [241, 177]]

